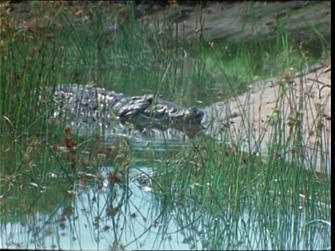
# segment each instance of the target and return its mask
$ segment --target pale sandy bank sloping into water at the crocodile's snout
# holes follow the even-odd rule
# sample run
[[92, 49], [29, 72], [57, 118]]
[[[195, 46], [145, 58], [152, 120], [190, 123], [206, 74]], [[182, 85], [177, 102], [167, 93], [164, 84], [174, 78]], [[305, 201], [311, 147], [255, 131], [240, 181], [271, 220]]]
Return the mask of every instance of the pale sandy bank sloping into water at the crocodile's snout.
[[[247, 152], [276, 158], [300, 155], [306, 169], [330, 174], [331, 72], [328, 63], [293, 79], [292, 73], [287, 73], [263, 81], [237, 98], [217, 102], [206, 108], [207, 114], [218, 114], [207, 132], [214, 137], [228, 132], [230, 142], [239, 146], [243, 142], [242, 149]], [[286, 147], [269, 153], [269, 143]]]

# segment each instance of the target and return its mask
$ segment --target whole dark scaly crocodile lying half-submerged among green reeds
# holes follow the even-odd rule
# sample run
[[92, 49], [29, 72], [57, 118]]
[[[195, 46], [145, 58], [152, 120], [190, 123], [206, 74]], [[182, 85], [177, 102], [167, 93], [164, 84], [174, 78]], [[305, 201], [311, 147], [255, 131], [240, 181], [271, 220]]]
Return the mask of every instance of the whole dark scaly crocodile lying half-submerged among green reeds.
[[203, 112], [155, 98], [154, 95], [126, 96], [123, 93], [80, 84], [46, 87], [43, 99], [52, 93], [52, 123], [66, 123], [82, 134], [187, 135], [201, 129]]

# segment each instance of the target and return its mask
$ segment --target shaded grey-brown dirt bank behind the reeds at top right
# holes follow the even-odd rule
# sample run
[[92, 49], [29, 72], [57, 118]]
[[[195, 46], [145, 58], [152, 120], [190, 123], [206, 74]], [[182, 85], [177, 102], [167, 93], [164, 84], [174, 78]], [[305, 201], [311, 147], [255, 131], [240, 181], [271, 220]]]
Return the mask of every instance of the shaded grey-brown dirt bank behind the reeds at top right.
[[276, 38], [282, 29], [297, 43], [313, 43], [320, 41], [315, 29], [330, 40], [330, 17], [330, 1], [211, 1], [204, 8], [165, 8], [144, 15], [140, 21], [163, 32], [171, 31], [179, 40], [186, 38], [188, 42], [202, 38], [248, 43], [255, 36]]

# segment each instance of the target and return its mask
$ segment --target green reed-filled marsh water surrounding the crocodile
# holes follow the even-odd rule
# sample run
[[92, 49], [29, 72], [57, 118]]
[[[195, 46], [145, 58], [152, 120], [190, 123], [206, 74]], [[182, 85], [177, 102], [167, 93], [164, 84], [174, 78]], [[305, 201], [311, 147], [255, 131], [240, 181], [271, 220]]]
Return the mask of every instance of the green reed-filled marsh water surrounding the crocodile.
[[40, 102], [43, 86], [77, 83], [205, 107], [330, 59], [330, 42], [313, 50], [278, 29], [275, 40], [188, 43], [137, 22], [131, 4], [106, 32], [121, 17], [105, 4], [36, 2], [32, 26], [1, 9], [1, 248], [330, 249], [330, 177], [276, 155], [282, 142], [260, 158], [228, 135], [159, 144], [76, 135], [49, 123], [52, 107]]

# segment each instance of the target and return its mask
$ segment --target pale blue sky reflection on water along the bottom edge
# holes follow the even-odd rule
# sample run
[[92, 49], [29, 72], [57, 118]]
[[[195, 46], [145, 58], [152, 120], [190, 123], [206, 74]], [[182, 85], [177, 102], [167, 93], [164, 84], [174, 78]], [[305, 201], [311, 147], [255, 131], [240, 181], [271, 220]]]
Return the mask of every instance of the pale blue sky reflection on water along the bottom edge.
[[[267, 211], [229, 210], [211, 215], [194, 199], [164, 204], [151, 183], [151, 167], [134, 167], [124, 183], [103, 167], [101, 176], [87, 190], [78, 187], [75, 199], [64, 200], [52, 214], [36, 213], [20, 222], [1, 224], [1, 248], [66, 250], [257, 250], [278, 247], [281, 227], [291, 229], [287, 243], [298, 241], [299, 249], [327, 248], [330, 227], [317, 226], [320, 243], [306, 243], [306, 211], [295, 215], [272, 215]], [[92, 174], [93, 175], [93, 174]], [[114, 182], [114, 185], [111, 183]], [[157, 196], [156, 196], [156, 195]], [[176, 194], [176, 197], [179, 196]], [[283, 219], [286, 219], [283, 221]], [[268, 231], [267, 225], [278, 226]], [[323, 228], [323, 229], [322, 229]], [[325, 228], [328, 228], [328, 230]], [[300, 229], [296, 232], [296, 229]], [[285, 232], [285, 231], [284, 231]], [[298, 237], [297, 237], [298, 236]], [[213, 242], [215, 240], [215, 243]], [[267, 240], [264, 243], [264, 240]], [[291, 244], [292, 245], [292, 244]], [[285, 245], [286, 246], [286, 245]], [[290, 244], [288, 244], [290, 246]]]

